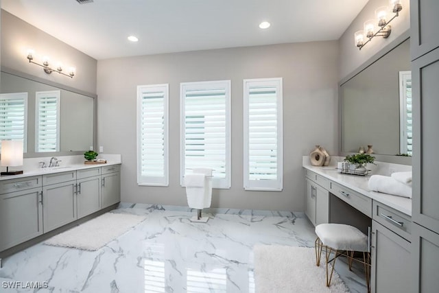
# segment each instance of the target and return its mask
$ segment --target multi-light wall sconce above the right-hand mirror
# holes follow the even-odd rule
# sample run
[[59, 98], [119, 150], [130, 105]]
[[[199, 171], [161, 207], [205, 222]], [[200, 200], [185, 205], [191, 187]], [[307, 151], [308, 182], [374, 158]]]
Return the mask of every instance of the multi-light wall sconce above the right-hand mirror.
[[[355, 46], [360, 50], [375, 36], [382, 36], [388, 38], [392, 32], [392, 27], [389, 25], [396, 16], [399, 16], [399, 12], [403, 10], [401, 0], [389, 0], [390, 8], [388, 6], [382, 6], [375, 10], [376, 19], [370, 19], [364, 23], [364, 30], [359, 30], [354, 34]], [[389, 12], [393, 12], [394, 16], [387, 21]], [[377, 27], [375, 27], [377, 23]], [[375, 32], [376, 28], [379, 29]], [[366, 40], [367, 39], [367, 40]]]

